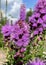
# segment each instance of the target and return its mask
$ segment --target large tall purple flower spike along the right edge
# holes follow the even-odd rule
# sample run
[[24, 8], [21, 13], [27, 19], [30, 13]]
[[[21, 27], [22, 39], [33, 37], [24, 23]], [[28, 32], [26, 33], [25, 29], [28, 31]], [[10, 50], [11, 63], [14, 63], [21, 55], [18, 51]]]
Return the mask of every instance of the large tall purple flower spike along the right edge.
[[38, 1], [29, 22], [34, 35], [43, 33], [46, 29], [46, 0]]

